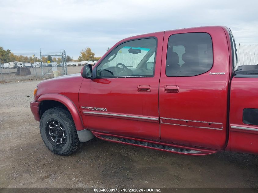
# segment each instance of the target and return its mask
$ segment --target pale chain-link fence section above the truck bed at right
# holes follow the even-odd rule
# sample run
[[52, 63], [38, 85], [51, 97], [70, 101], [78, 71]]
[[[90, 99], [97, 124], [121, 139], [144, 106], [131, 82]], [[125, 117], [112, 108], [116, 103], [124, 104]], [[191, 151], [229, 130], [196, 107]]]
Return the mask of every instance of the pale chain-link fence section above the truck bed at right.
[[242, 44], [237, 43], [238, 64], [257, 65], [258, 64], [258, 44]]

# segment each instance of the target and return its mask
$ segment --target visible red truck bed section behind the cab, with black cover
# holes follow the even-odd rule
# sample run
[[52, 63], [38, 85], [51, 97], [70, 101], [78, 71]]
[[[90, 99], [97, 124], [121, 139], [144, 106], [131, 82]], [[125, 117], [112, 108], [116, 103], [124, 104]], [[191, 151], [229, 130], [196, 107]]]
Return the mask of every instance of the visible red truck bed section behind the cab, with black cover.
[[231, 81], [229, 144], [236, 152], [258, 153], [258, 65], [239, 66]]

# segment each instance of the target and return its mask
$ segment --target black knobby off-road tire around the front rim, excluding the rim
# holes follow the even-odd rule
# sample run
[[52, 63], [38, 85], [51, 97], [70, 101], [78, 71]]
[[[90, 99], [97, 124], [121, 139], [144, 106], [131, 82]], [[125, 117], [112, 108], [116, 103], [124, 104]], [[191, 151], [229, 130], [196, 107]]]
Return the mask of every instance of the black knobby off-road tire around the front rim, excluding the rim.
[[[64, 147], [56, 148], [51, 144], [49, 138], [47, 137], [46, 127], [48, 121], [51, 119], [58, 120], [65, 128], [67, 139]], [[46, 147], [54, 154], [63, 156], [70, 155], [71, 153], [77, 151], [80, 146], [82, 146], [82, 143], [79, 141], [71, 114], [69, 111], [67, 111], [67, 109], [62, 107], [54, 107], [46, 110], [40, 119], [39, 129]]]

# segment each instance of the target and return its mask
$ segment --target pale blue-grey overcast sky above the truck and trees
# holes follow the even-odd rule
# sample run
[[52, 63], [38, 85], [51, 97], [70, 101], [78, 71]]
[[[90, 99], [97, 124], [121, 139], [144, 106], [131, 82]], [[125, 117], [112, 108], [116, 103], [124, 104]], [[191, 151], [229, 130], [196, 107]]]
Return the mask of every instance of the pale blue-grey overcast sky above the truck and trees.
[[187, 27], [224, 25], [236, 42], [258, 43], [258, 1], [248, 0], [1, 0], [0, 46], [13, 53], [65, 49], [74, 59], [90, 47], [131, 36]]

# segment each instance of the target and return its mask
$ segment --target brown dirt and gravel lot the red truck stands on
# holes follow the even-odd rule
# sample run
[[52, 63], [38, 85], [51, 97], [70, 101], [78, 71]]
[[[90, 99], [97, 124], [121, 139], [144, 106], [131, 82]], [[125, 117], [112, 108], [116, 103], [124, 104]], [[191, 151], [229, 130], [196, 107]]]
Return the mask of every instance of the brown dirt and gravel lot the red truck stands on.
[[258, 187], [256, 155], [186, 156], [98, 139], [55, 155], [29, 107], [38, 82], [0, 84], [0, 187]]

